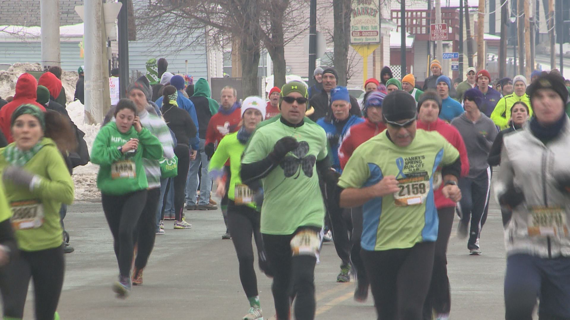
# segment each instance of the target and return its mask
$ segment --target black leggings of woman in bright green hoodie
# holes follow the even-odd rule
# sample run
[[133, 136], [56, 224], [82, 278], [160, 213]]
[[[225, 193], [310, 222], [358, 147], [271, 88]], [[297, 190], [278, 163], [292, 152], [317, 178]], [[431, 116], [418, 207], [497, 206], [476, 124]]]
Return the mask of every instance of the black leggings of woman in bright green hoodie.
[[101, 195], [103, 212], [113, 236], [121, 277], [130, 277], [137, 221], [146, 203], [146, 190], [124, 195]]

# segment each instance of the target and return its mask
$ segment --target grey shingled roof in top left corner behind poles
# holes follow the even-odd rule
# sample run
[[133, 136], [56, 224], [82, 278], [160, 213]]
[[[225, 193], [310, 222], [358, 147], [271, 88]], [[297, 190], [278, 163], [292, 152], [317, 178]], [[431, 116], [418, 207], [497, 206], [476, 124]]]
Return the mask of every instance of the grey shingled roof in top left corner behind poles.
[[[0, 25], [39, 26], [40, 10], [38, 0], [1, 1]], [[75, 6], [82, 6], [83, 0], [59, 0], [59, 25], [82, 23], [83, 20], [75, 12]]]

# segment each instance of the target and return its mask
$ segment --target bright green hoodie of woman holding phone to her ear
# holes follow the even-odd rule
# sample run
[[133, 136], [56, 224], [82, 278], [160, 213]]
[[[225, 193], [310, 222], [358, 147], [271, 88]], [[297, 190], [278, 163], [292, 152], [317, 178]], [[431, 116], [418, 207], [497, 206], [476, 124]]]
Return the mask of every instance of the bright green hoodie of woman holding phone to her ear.
[[[134, 154], [122, 153], [117, 149], [131, 138], [139, 139], [139, 147]], [[116, 122], [106, 124], [97, 133], [91, 150], [91, 162], [99, 165], [97, 188], [106, 195], [123, 195], [148, 188], [143, 157], [150, 160], [162, 158], [162, 145], [148, 129], [143, 128], [137, 133], [132, 126], [127, 133], [121, 133]], [[124, 167], [120, 167], [120, 164], [135, 168], [121, 170]], [[116, 177], [113, 178], [113, 175]]]

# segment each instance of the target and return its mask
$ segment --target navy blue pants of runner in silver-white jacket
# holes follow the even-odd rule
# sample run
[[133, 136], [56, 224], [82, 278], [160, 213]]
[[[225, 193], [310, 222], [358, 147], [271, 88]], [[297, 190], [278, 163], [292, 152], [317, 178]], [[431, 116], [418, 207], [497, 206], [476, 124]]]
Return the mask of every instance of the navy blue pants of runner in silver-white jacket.
[[570, 258], [507, 255], [504, 276], [506, 320], [532, 320], [540, 297], [539, 320], [570, 319]]

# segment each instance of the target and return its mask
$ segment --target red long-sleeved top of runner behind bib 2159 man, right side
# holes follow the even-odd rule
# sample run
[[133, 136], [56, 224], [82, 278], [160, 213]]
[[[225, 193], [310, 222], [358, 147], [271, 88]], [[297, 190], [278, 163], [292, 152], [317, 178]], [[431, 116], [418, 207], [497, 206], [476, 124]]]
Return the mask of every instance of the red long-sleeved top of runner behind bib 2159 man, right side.
[[[463, 142], [463, 138], [459, 131], [452, 125], [448, 124], [447, 122], [437, 118], [433, 124], [426, 124], [420, 120], [417, 121], [418, 129], [424, 129], [426, 131], [437, 131], [439, 134], [445, 138], [451, 145], [459, 151], [459, 159], [461, 160], [461, 177], [466, 177], [469, 174], [469, 158], [467, 158], [467, 149], [465, 149], [465, 142]], [[441, 193], [443, 189], [443, 183], [439, 186], [438, 190], [436, 190], [433, 194], [435, 200], [435, 207], [436, 208], [445, 208], [445, 207], [455, 207], [455, 202], [450, 199], [445, 198]]]

